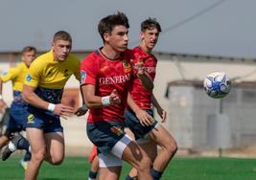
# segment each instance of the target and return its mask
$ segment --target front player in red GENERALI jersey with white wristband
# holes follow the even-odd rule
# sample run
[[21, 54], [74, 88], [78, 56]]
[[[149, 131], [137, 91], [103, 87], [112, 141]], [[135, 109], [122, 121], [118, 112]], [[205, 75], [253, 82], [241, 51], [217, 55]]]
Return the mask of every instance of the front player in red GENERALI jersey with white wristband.
[[98, 25], [104, 46], [81, 63], [82, 95], [89, 110], [87, 135], [99, 150], [99, 179], [119, 179], [122, 159], [138, 170], [139, 179], [151, 180], [151, 160], [124, 132], [124, 110], [133, 76], [152, 89], [143, 63], [131, 66], [128, 51], [128, 17], [118, 12], [105, 16]]

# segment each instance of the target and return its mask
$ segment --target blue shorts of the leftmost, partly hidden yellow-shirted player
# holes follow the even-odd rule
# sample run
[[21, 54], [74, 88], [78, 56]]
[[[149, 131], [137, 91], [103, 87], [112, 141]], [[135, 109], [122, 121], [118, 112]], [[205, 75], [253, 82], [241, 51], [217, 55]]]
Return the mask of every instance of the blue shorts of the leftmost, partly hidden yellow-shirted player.
[[12, 133], [25, 130], [28, 115], [27, 103], [24, 101], [12, 101], [7, 131]]

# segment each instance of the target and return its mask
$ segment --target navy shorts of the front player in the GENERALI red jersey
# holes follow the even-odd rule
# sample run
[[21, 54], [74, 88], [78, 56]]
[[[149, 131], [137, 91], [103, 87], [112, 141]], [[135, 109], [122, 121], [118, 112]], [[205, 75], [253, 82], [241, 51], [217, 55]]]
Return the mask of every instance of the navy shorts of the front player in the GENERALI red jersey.
[[124, 124], [113, 121], [87, 123], [86, 128], [88, 138], [103, 154], [110, 152], [125, 135]]

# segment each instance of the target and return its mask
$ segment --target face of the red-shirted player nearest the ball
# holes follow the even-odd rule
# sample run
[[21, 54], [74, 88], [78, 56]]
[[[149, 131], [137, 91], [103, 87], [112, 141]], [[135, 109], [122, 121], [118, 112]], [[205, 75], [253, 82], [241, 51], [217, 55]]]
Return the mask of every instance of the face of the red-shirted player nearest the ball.
[[147, 49], [152, 50], [155, 44], [157, 43], [159, 37], [159, 32], [156, 28], [151, 30], [146, 30], [145, 32], [141, 32], [141, 39], [146, 46]]

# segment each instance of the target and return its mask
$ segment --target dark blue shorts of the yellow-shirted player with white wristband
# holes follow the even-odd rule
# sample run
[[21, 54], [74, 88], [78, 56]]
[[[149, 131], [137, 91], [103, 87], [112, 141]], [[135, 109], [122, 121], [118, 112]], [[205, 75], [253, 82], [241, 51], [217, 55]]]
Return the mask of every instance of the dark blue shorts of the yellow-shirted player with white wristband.
[[39, 128], [42, 129], [44, 133], [63, 132], [59, 116], [42, 114], [40, 112], [35, 113], [35, 111], [33, 114], [29, 114], [26, 127]]

